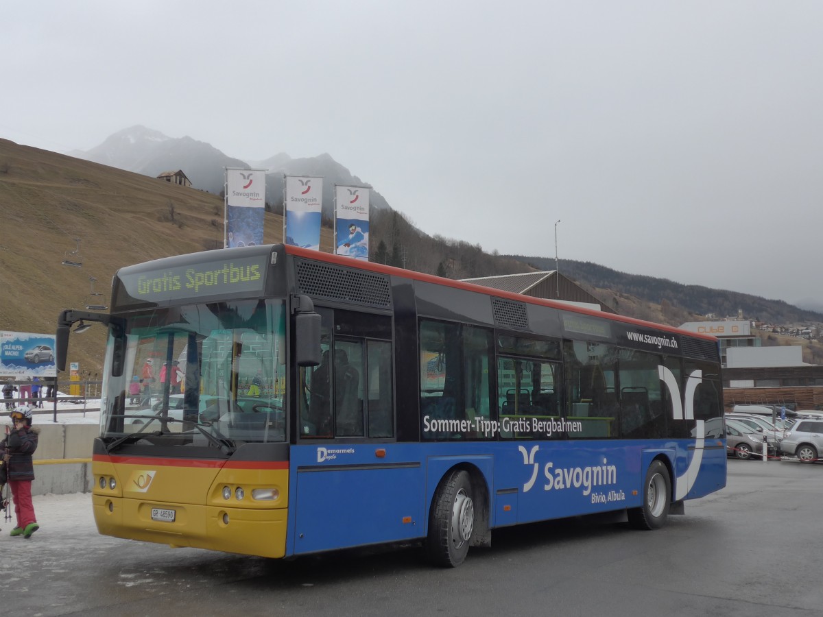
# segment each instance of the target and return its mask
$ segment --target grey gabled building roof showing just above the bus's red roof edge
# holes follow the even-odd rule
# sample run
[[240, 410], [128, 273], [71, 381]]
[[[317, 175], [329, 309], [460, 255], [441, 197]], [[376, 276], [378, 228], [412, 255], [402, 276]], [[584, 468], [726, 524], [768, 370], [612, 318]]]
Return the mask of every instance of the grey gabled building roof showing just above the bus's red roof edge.
[[560, 302], [600, 310], [603, 313], [616, 313], [613, 308], [609, 308], [577, 283], [556, 270], [481, 276], [476, 279], [463, 279], [463, 282], [483, 285], [500, 291], [509, 291], [513, 294], [530, 295], [532, 298], [560, 300]]

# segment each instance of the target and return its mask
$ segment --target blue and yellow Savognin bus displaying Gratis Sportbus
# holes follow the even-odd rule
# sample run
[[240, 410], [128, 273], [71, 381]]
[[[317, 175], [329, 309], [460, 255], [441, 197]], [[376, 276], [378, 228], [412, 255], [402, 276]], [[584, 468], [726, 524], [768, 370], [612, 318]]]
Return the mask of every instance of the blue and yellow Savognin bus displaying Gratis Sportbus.
[[726, 484], [712, 336], [283, 245], [124, 267], [110, 306], [57, 328], [61, 369], [74, 324], [108, 328], [105, 535], [457, 566], [498, 527], [655, 529]]

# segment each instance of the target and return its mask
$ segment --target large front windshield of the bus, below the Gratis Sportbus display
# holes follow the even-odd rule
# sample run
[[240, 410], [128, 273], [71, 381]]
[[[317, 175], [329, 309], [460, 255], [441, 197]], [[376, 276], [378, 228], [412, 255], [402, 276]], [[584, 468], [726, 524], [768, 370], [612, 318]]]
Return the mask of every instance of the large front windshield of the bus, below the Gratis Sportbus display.
[[125, 361], [109, 335], [100, 436], [113, 443], [212, 446], [286, 438], [281, 299], [154, 308], [124, 316]]

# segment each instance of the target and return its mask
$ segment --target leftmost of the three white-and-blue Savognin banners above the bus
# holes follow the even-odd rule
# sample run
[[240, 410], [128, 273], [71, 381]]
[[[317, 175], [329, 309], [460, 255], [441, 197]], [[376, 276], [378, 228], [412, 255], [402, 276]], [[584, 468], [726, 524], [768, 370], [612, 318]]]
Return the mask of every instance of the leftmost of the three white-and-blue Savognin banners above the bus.
[[235, 248], [263, 244], [266, 211], [266, 172], [226, 169], [226, 239]]

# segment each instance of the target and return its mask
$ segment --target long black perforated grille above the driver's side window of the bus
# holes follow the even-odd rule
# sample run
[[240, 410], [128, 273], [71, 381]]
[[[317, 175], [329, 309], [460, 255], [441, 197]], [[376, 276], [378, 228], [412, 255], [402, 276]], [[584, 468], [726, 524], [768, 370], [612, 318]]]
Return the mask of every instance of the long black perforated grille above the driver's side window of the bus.
[[374, 272], [349, 270], [330, 266], [328, 263], [298, 261], [297, 286], [300, 293], [314, 298], [354, 302], [378, 308], [389, 308], [392, 305], [388, 276]]

